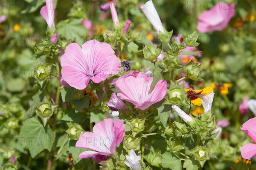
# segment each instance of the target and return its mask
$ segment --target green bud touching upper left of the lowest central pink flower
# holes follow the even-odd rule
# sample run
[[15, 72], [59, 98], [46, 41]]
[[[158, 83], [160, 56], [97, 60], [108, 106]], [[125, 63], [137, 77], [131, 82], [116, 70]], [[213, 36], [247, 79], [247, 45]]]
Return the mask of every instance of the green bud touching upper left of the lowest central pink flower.
[[69, 123], [68, 127], [69, 128], [66, 130], [66, 133], [69, 135], [70, 139], [77, 140], [79, 139], [80, 135], [85, 132], [80, 124]]

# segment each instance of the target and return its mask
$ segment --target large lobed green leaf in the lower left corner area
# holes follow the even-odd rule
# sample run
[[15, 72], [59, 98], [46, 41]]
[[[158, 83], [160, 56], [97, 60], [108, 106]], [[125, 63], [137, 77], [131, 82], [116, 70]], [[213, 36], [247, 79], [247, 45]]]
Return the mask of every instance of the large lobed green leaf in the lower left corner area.
[[23, 122], [19, 138], [24, 140], [31, 157], [35, 158], [44, 149], [52, 149], [54, 134], [48, 125], [43, 127], [37, 118], [29, 118]]

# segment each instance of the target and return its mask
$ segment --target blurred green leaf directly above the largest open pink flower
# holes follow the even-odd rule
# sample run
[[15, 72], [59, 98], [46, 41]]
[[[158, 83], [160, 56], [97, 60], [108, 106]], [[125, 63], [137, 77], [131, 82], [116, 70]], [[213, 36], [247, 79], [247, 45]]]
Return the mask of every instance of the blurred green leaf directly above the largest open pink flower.
[[81, 19], [64, 20], [58, 23], [58, 33], [67, 39], [75, 40], [80, 46], [83, 44], [83, 36], [87, 34], [87, 29], [81, 24]]

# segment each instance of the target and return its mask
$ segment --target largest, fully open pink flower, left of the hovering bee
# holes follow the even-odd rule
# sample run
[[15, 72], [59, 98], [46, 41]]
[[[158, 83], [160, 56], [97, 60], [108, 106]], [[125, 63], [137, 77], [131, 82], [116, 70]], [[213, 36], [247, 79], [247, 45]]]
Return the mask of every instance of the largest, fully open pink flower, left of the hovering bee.
[[61, 57], [61, 66], [64, 81], [76, 89], [84, 89], [90, 80], [99, 83], [116, 75], [120, 62], [108, 43], [90, 40], [82, 48], [77, 43], [68, 45]]

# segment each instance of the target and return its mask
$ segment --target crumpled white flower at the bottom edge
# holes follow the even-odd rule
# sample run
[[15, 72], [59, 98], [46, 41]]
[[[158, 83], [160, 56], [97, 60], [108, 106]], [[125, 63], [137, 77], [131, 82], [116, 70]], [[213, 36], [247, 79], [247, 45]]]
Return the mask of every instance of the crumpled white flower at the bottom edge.
[[130, 152], [130, 155], [125, 155], [126, 161], [125, 164], [131, 169], [131, 170], [141, 170], [140, 166], [140, 156], [137, 156], [134, 150], [132, 149]]

